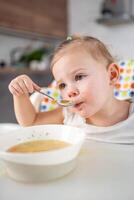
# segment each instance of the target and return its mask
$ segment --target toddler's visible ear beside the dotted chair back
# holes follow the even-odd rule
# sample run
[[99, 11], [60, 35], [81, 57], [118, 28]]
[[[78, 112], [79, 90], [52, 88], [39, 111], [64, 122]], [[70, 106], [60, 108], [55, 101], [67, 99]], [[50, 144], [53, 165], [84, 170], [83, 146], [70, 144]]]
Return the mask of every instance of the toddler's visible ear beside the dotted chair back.
[[110, 84], [114, 85], [119, 79], [119, 66], [116, 63], [111, 63], [108, 66], [108, 73], [110, 77]]

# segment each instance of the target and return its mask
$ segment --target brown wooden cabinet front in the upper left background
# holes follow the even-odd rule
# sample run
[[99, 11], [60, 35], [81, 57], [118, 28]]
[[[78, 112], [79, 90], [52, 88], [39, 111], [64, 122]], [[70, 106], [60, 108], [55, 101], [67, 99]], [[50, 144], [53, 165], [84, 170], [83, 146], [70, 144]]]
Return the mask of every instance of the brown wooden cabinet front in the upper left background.
[[67, 35], [67, 0], [0, 0], [0, 26], [50, 37]]

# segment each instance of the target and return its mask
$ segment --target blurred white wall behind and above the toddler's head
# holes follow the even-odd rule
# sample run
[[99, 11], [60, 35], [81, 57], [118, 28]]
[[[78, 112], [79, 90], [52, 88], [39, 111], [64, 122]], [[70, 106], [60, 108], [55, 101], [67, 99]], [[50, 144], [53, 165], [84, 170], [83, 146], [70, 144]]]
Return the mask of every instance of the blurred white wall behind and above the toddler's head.
[[119, 59], [134, 59], [134, 22], [107, 27], [97, 24], [102, 0], [69, 0], [69, 33], [98, 37]]

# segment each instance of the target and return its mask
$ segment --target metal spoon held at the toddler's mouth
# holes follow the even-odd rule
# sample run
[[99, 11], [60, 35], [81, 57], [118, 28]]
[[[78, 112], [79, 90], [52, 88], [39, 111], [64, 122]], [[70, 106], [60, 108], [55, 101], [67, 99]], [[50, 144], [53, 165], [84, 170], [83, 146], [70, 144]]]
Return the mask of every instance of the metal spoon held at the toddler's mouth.
[[63, 107], [68, 107], [68, 106], [73, 106], [74, 103], [71, 102], [71, 101], [68, 101], [66, 99], [61, 99], [61, 100], [57, 100], [55, 99], [54, 97], [52, 96], [49, 96], [48, 94], [42, 92], [42, 91], [39, 91], [39, 90], [36, 90], [37, 92], [39, 92], [40, 94], [43, 94], [45, 96], [47, 96], [48, 98], [52, 99], [54, 102], [56, 102], [59, 106], [63, 106]]

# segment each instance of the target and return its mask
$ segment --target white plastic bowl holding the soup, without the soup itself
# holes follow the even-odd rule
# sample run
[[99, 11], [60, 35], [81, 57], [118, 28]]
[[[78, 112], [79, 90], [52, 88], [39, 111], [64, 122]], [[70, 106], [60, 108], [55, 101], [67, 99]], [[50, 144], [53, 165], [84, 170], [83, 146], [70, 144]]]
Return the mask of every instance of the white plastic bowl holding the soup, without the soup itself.
[[[11, 153], [7, 149], [29, 140], [56, 139], [72, 145], [47, 152]], [[0, 140], [0, 158], [10, 177], [37, 182], [61, 177], [76, 166], [76, 157], [85, 139], [82, 129], [65, 125], [40, 125], [11, 131]]]

